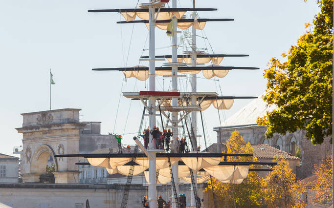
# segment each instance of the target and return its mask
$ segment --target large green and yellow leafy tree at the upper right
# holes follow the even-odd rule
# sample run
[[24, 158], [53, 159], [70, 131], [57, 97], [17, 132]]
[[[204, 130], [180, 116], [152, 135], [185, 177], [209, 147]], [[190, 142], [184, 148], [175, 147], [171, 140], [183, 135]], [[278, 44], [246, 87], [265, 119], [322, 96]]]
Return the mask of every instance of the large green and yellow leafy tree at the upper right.
[[317, 0], [321, 11], [289, 53], [287, 62], [272, 58], [265, 70], [264, 100], [277, 106], [259, 118], [266, 137], [305, 129], [313, 144], [332, 135], [333, 0]]

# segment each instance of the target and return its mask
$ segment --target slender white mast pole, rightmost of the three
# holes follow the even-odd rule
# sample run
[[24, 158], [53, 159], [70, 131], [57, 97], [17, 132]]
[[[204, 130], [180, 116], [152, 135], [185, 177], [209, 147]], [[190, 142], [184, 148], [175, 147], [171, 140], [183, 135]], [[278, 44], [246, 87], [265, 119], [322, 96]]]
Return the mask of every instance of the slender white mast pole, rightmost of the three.
[[[195, 8], [195, 0], [193, 0], [193, 6]], [[191, 14], [191, 17], [193, 19], [196, 18], [196, 12], [194, 11]], [[197, 65], [197, 54], [195, 53], [196, 51], [196, 28], [194, 28], [194, 25], [191, 27], [191, 39], [192, 39], [192, 54], [191, 54], [191, 66], [196, 66]], [[193, 74], [191, 76], [191, 91], [192, 92], [196, 92], [197, 91], [197, 80], [196, 80], [196, 74]], [[196, 105], [197, 104], [197, 100], [196, 100], [196, 96], [192, 96], [191, 97], [191, 104], [192, 105]], [[194, 135], [195, 138], [193, 138], [194, 140], [194, 144], [196, 144], [195, 148], [197, 148], [197, 111], [192, 111], [191, 112], [191, 125], [192, 125], [192, 134]], [[190, 140], [192, 138], [189, 138]], [[197, 187], [197, 172], [194, 172], [194, 178], [195, 178], [195, 186]], [[194, 187], [190, 186], [191, 189], [191, 196], [190, 196], [190, 205], [195, 207], [196, 206], [196, 202], [195, 202], [195, 192], [194, 192]]]

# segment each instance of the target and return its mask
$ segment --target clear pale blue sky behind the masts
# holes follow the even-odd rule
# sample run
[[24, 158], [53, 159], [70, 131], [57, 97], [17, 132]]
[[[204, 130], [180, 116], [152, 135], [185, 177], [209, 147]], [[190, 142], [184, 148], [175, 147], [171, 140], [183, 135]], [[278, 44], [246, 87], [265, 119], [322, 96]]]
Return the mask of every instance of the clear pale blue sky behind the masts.
[[[148, 48], [148, 43], [145, 45], [148, 30], [139, 23], [116, 24], [123, 21], [119, 13], [88, 13], [87, 10], [134, 8], [136, 2], [0, 0], [0, 153], [12, 155], [13, 146], [22, 145], [22, 134], [15, 129], [22, 126], [20, 113], [48, 110], [49, 68], [56, 83], [52, 85], [52, 109], [81, 108], [81, 121], [101, 121], [102, 133], [113, 132], [123, 75], [91, 71], [91, 68], [123, 67], [128, 52], [127, 66], [138, 65], [143, 48]], [[191, 7], [191, 2], [178, 0], [178, 7]], [[198, 91], [220, 91], [220, 85], [225, 96], [262, 94], [266, 89], [263, 72], [270, 58], [288, 51], [305, 32], [304, 23], [312, 22], [319, 10], [315, 0], [307, 3], [303, 0], [197, 0], [196, 4], [198, 8], [218, 8], [218, 11], [200, 12], [200, 18], [235, 19], [208, 22], [204, 32], [197, 32], [208, 37], [216, 54], [249, 54], [244, 58], [226, 58], [221, 65], [260, 67], [257, 71], [232, 70], [219, 79], [219, 84], [198, 79]], [[189, 14], [186, 13], [187, 17]], [[205, 48], [205, 43], [198, 37], [199, 48]], [[156, 48], [169, 45], [165, 31], [157, 28]], [[148, 51], [143, 54], [148, 55]], [[171, 54], [171, 48], [156, 50], [156, 55], [166, 54]], [[181, 90], [186, 89], [184, 84], [185, 80]], [[147, 90], [145, 85], [147, 82], [131, 78], [124, 83], [123, 92]], [[170, 78], [157, 78], [157, 90], [167, 90], [169, 85]], [[250, 101], [236, 100], [230, 110], [221, 111], [222, 119]], [[141, 113], [142, 104], [121, 97], [114, 133], [136, 132]], [[217, 109], [210, 107], [203, 114], [211, 144], [216, 142], [212, 129], [219, 126]], [[201, 129], [199, 126], [200, 133]], [[124, 135], [124, 143], [133, 144], [132, 136]], [[203, 140], [200, 144], [204, 146]]]

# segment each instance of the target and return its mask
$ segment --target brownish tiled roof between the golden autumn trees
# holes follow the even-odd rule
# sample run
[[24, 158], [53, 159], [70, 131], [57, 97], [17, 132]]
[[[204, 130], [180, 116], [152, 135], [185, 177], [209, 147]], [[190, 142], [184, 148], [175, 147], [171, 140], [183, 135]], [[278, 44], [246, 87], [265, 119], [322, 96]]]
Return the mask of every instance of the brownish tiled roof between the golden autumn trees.
[[267, 144], [252, 144], [251, 146], [253, 147], [254, 154], [257, 158], [274, 159], [276, 155], [282, 155], [285, 159], [288, 160], [300, 160], [299, 157], [293, 156], [291, 153], [285, 152]]

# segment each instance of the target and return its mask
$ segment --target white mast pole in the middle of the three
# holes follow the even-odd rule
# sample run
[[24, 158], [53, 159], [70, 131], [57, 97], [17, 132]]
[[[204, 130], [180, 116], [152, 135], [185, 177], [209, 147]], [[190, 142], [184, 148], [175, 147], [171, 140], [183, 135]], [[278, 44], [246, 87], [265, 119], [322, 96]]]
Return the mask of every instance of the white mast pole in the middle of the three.
[[[172, 7], [177, 8], [177, 0], [172, 1]], [[178, 20], [175, 16], [173, 16], [172, 19], [173, 24], [173, 30], [172, 30], [172, 62], [174, 65], [172, 65], [172, 91], [177, 92], [178, 91], [178, 35], [177, 35], [177, 26], [178, 26]], [[178, 99], [173, 98], [172, 99], [172, 106], [178, 106]], [[172, 112], [172, 121], [173, 121], [173, 139], [174, 139], [174, 151], [176, 151], [177, 146], [177, 137], [178, 137], [178, 112]], [[175, 182], [175, 188], [176, 192], [178, 193], [178, 163], [175, 163], [172, 166], [173, 169], [173, 177]], [[174, 195], [174, 193], [173, 193]], [[178, 200], [178, 196], [174, 196], [172, 198], [172, 208], [176, 208], [176, 202], [175, 200]]]

